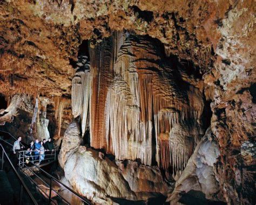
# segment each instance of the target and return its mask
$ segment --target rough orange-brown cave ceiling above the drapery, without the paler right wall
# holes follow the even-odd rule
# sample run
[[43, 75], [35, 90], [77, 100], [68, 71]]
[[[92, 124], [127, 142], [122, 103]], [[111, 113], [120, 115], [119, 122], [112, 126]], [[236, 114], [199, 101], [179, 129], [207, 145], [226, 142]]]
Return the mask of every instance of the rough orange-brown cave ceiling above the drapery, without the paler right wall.
[[218, 59], [219, 27], [232, 5], [227, 1], [2, 2], [2, 93], [70, 95], [70, 61], [77, 60], [82, 41], [90, 40], [93, 46], [123, 29], [159, 39], [167, 55], [193, 61], [200, 73], [207, 73]]

